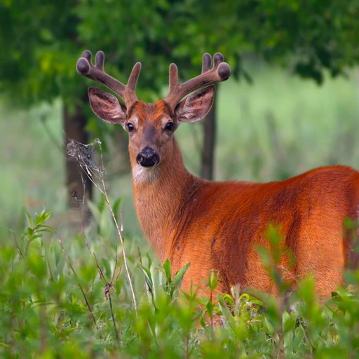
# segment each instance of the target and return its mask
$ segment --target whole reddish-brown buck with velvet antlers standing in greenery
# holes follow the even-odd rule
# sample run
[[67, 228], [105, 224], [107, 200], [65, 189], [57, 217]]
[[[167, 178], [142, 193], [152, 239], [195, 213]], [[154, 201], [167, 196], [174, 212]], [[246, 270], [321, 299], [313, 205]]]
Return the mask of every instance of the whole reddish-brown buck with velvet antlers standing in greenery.
[[[178, 81], [175, 64], [169, 69], [168, 95], [154, 103], [135, 93], [141, 63], [124, 85], [104, 72], [104, 53], [95, 65], [89, 50], [76, 64], [79, 74], [112, 90], [123, 102], [100, 88], [88, 88], [90, 107], [103, 121], [120, 124], [129, 135], [133, 198], [140, 226], [159, 261], [169, 259], [172, 270], [191, 263], [183, 290], [195, 285], [207, 295], [204, 279], [219, 276], [217, 291], [233, 285], [278, 294], [257, 250], [269, 248], [269, 225], [282, 238], [278, 269], [295, 289], [309, 273], [316, 295], [330, 296], [343, 284], [344, 270], [355, 268], [355, 224], [359, 215], [359, 173], [344, 165], [309, 170], [268, 183], [211, 182], [184, 166], [174, 133], [181, 123], [199, 121], [210, 111], [215, 83], [229, 79], [231, 69], [221, 53], [203, 55], [201, 74]], [[294, 258], [294, 260], [290, 259]], [[285, 272], [285, 273], [284, 273]], [[290, 273], [288, 275], [288, 273]], [[207, 293], [207, 294], [206, 294]]]

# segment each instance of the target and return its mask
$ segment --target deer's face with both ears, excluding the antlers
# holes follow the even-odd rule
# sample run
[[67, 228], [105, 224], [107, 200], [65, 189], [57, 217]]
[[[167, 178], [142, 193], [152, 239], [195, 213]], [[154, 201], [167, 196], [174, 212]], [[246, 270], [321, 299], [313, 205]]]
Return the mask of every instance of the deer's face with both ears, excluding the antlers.
[[98, 117], [120, 123], [128, 132], [132, 167], [150, 170], [171, 161], [173, 133], [180, 123], [198, 121], [210, 111], [215, 86], [192, 93], [177, 104], [173, 114], [164, 100], [153, 104], [137, 101], [128, 110], [116, 97], [98, 88], [89, 88], [88, 94], [91, 108]]

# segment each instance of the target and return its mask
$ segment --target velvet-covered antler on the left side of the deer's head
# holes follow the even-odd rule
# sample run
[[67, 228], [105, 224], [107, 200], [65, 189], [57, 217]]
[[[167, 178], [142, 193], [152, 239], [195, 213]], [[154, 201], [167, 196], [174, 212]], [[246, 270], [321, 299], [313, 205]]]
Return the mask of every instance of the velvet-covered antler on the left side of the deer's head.
[[91, 52], [89, 50], [84, 51], [79, 60], [77, 60], [76, 69], [80, 75], [102, 83], [113, 90], [114, 93], [122, 98], [128, 108], [138, 100], [135, 89], [141, 71], [141, 62], [137, 62], [133, 66], [127, 85], [123, 85], [123, 83], [104, 72], [104, 53], [102, 51], [96, 53], [95, 66], [91, 63]]

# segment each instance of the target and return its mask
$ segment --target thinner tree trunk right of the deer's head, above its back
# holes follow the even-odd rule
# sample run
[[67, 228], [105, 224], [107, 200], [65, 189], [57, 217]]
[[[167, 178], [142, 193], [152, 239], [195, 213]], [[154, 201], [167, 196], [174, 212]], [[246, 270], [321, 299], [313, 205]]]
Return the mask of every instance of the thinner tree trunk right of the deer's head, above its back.
[[216, 141], [216, 97], [212, 109], [205, 116], [203, 121], [203, 149], [201, 160], [201, 177], [203, 179], [213, 179], [213, 169], [215, 162], [215, 141]]

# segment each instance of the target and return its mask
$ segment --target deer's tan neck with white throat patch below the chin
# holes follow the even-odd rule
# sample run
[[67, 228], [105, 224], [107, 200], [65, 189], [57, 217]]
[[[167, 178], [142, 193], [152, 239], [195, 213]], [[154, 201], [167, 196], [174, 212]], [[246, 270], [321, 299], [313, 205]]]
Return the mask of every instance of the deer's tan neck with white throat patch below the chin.
[[179, 211], [187, 203], [188, 189], [196, 182], [184, 167], [175, 138], [170, 157], [151, 169], [142, 168], [131, 158], [137, 217], [161, 263], [169, 257]]

